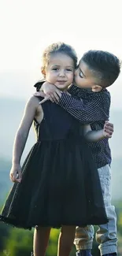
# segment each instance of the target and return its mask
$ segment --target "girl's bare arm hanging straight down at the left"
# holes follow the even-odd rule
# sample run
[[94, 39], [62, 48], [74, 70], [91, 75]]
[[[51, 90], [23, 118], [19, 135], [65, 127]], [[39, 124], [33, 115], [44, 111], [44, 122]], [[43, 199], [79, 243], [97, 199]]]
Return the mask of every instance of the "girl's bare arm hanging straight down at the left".
[[[31, 128], [31, 124], [37, 113], [37, 108], [39, 106], [39, 99], [31, 97], [24, 109], [24, 116], [20, 122], [20, 126], [17, 130], [17, 134], [13, 143], [13, 160], [12, 168], [10, 170], [10, 179], [15, 182], [21, 180], [21, 168], [20, 168], [20, 158], [24, 151], [25, 143], [28, 139], [28, 133]], [[41, 106], [39, 106], [41, 108]], [[19, 179], [17, 179], [17, 174]]]

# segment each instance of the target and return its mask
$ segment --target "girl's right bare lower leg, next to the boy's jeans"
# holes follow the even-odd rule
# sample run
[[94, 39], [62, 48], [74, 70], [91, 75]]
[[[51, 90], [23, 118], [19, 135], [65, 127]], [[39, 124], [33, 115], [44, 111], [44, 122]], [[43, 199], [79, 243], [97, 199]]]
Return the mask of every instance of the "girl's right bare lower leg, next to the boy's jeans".
[[72, 250], [76, 226], [62, 226], [58, 239], [57, 256], [68, 256]]

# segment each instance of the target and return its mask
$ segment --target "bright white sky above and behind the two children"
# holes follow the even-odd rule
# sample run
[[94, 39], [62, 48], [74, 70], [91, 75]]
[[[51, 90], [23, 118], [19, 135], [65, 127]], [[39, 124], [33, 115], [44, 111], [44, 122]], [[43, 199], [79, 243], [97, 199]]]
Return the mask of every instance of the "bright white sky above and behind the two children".
[[[50, 43], [72, 45], [79, 58], [87, 50], [108, 50], [122, 59], [121, 0], [1, 0], [0, 96], [27, 99], [41, 73]], [[122, 109], [122, 74], [109, 88], [112, 108]]]

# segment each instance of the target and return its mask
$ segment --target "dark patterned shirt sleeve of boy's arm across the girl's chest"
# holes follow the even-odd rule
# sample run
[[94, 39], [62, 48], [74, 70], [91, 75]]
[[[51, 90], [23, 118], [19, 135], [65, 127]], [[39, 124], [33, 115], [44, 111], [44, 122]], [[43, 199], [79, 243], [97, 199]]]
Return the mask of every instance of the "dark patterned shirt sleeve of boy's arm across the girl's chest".
[[[70, 91], [71, 92], [71, 91]], [[82, 124], [91, 124], [109, 120], [110, 95], [99, 93], [91, 102], [83, 103], [82, 99], [73, 98], [63, 92], [58, 103]]]

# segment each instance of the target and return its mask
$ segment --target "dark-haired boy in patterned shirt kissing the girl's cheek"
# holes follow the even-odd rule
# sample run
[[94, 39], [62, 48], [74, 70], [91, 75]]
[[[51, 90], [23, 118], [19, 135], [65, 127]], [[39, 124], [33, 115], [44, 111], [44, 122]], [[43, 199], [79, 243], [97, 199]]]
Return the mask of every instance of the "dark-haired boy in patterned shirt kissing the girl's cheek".
[[[109, 120], [110, 94], [106, 90], [114, 83], [120, 74], [120, 61], [116, 56], [101, 50], [90, 50], [79, 61], [76, 69], [74, 85], [68, 93], [62, 93], [50, 83], [43, 84], [46, 98], [63, 107], [81, 124], [91, 124], [92, 130], [100, 130], [105, 121]], [[61, 74], [62, 80], [64, 74]], [[70, 94], [70, 95], [69, 95]], [[72, 95], [72, 96], [71, 96]], [[45, 99], [43, 100], [43, 102]], [[116, 213], [111, 206], [111, 153], [108, 139], [90, 143], [94, 161], [98, 167], [101, 180], [105, 210], [109, 218], [108, 224], [102, 224], [96, 234], [101, 255], [113, 256], [117, 254]], [[78, 210], [78, 208], [77, 208]], [[77, 256], [91, 256], [94, 228], [76, 228]]]

